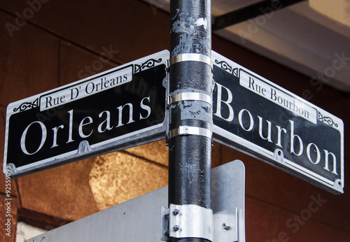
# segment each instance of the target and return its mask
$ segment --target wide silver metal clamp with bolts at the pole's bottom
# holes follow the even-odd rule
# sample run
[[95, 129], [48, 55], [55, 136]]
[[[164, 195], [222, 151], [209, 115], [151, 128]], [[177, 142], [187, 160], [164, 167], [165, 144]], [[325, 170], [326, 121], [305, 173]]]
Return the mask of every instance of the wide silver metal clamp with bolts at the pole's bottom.
[[[213, 241], [213, 211], [201, 206], [170, 204], [169, 236], [174, 238], [202, 238]], [[200, 224], [198, 224], [198, 222]]]

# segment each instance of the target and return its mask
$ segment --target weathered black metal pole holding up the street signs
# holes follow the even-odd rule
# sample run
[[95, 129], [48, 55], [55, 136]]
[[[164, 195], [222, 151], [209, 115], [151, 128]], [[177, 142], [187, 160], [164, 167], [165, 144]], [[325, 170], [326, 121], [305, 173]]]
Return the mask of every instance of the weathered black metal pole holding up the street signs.
[[[211, 97], [211, 1], [171, 0], [170, 57], [188, 55], [169, 67], [169, 95], [200, 93]], [[200, 54], [200, 55], [198, 55]], [[173, 58], [173, 59], [174, 59]], [[186, 59], [186, 58], [184, 58]], [[205, 58], [204, 58], [205, 59]], [[186, 98], [184, 98], [186, 99]], [[188, 128], [188, 133], [169, 136], [169, 204], [193, 204], [211, 208], [212, 107], [203, 100], [176, 101], [169, 106], [169, 131]], [[192, 134], [191, 129], [200, 130]], [[197, 129], [200, 128], [200, 129]], [[202, 132], [204, 131], [204, 132]], [[209, 131], [209, 136], [206, 131]], [[202, 221], [198, 222], [198, 225]], [[200, 242], [200, 238], [169, 238], [169, 241]]]

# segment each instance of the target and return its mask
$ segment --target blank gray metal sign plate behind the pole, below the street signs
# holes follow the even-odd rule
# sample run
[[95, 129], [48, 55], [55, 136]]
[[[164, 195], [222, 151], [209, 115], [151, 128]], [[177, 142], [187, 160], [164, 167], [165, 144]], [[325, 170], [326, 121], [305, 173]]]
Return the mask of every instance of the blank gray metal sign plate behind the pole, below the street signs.
[[[244, 176], [244, 164], [238, 160], [211, 170], [212, 210], [214, 213], [225, 216], [228, 215], [226, 211], [235, 213], [237, 208], [237, 236], [239, 242], [245, 242]], [[27, 240], [27, 242], [161, 241], [161, 213], [162, 207], [168, 206], [167, 192], [167, 187], [162, 187], [159, 190], [107, 208], [68, 225], [52, 229]], [[225, 218], [223, 219], [225, 220]], [[217, 224], [223, 229], [221, 222]], [[232, 227], [234, 226], [230, 225], [230, 228]], [[216, 228], [214, 227], [214, 229]], [[218, 229], [220, 228], [218, 227]], [[230, 232], [230, 229], [225, 231]], [[235, 242], [228, 234], [223, 233], [222, 237], [214, 238], [214, 241]], [[44, 237], [45, 239], [43, 239]]]

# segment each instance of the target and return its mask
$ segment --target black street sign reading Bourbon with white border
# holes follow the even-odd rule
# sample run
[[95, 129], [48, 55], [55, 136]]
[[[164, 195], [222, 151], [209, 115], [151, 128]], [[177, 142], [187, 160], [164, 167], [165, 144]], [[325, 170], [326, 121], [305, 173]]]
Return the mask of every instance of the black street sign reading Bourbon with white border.
[[214, 140], [343, 193], [342, 120], [212, 52]]

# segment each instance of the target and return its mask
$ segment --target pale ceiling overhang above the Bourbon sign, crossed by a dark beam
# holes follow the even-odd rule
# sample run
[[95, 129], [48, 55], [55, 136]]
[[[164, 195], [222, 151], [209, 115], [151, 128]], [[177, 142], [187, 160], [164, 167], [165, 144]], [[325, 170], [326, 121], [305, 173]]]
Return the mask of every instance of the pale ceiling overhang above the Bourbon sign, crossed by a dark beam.
[[[146, 1], [169, 12], [169, 0]], [[258, 2], [212, 0], [212, 14], [215, 18]], [[214, 34], [303, 73], [310, 82], [350, 92], [349, 0], [309, 0], [264, 12]]]

